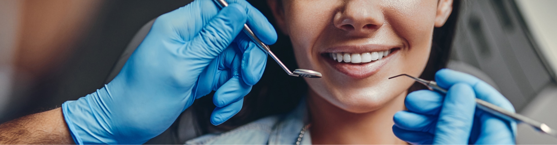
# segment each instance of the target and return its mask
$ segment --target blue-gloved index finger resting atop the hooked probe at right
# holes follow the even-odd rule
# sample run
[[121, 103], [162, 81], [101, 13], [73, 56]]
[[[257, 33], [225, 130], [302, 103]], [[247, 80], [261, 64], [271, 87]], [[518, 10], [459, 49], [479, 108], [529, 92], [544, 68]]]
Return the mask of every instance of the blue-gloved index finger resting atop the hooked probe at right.
[[435, 81], [439, 87], [442, 88], [448, 88], [456, 83], [466, 83], [472, 86], [477, 98], [515, 112], [509, 100], [499, 93], [497, 89], [470, 74], [453, 71], [451, 69], [441, 69], [435, 74]]

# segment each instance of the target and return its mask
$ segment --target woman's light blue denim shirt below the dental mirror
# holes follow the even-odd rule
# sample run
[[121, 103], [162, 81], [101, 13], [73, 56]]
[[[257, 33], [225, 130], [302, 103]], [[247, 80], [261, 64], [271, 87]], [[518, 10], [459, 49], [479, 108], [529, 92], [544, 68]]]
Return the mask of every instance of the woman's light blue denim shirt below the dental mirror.
[[[306, 122], [307, 108], [302, 99], [288, 114], [261, 118], [228, 132], [206, 134], [185, 144], [296, 144]], [[309, 130], [300, 144], [311, 144]]]

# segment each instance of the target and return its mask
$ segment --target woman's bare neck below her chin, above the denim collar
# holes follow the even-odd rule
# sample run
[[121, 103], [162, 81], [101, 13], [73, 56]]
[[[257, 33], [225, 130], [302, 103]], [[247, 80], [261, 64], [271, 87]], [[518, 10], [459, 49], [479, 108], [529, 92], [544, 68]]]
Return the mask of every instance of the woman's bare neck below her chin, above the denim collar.
[[312, 144], [408, 144], [393, 134], [394, 113], [404, 109], [406, 92], [383, 107], [367, 113], [352, 113], [310, 91]]

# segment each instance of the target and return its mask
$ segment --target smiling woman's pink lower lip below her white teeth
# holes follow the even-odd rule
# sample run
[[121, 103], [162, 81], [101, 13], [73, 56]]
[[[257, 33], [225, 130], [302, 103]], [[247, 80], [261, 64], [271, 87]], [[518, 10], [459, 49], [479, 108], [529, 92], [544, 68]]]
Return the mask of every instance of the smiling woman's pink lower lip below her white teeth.
[[324, 55], [323, 57], [325, 57], [326, 62], [328, 62], [331, 67], [335, 68], [336, 71], [344, 73], [351, 78], [362, 79], [377, 73], [383, 65], [387, 64], [387, 62], [397, 54], [398, 50], [398, 48], [391, 49], [389, 56], [366, 63], [338, 62], [329, 58], [329, 55]]

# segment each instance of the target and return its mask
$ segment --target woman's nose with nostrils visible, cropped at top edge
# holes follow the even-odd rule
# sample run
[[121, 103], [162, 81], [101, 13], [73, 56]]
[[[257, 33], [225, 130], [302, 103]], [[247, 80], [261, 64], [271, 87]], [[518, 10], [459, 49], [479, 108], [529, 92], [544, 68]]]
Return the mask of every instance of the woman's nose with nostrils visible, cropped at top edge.
[[379, 1], [353, 0], [335, 14], [336, 28], [356, 34], [372, 33], [383, 26], [385, 19]]

